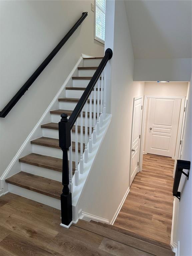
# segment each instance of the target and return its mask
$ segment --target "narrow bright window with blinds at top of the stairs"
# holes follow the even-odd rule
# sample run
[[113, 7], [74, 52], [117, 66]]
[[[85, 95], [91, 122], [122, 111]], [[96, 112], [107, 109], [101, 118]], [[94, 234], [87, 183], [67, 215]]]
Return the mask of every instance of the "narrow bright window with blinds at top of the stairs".
[[105, 41], [105, 0], [95, 0], [95, 37]]

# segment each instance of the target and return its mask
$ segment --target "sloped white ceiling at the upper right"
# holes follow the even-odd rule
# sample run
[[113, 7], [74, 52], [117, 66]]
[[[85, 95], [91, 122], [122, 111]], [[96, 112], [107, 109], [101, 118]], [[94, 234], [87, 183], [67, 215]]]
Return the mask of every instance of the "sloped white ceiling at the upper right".
[[190, 0], [125, 0], [135, 59], [191, 58]]

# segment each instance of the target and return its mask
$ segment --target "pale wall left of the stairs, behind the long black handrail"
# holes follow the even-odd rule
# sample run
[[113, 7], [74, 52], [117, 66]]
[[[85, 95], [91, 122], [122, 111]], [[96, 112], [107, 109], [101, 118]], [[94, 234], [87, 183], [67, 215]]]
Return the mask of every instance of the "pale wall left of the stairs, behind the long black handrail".
[[80, 58], [103, 56], [94, 40], [94, 1], [0, 1], [0, 110], [67, 31], [88, 16], [11, 112], [0, 120], [0, 176]]

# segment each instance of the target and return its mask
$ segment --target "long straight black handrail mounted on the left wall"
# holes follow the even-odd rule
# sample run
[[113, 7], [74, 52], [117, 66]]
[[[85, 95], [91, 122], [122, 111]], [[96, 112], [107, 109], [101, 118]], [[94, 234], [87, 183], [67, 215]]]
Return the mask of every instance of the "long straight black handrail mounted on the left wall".
[[74, 24], [74, 26], [67, 32], [63, 39], [58, 43], [58, 45], [52, 50], [52, 52], [47, 56], [47, 58], [41, 63], [41, 65], [35, 70], [35, 72], [29, 77], [29, 79], [24, 83], [24, 85], [19, 89], [19, 91], [13, 96], [9, 103], [0, 112], [0, 117], [6, 117], [6, 115], [11, 111], [15, 104], [20, 100], [24, 93], [29, 89], [32, 83], [37, 79], [49, 62], [54, 58], [62, 46], [67, 42], [70, 36], [75, 32], [75, 30], [81, 25], [83, 20], [87, 17], [88, 13], [83, 12], [82, 16]]

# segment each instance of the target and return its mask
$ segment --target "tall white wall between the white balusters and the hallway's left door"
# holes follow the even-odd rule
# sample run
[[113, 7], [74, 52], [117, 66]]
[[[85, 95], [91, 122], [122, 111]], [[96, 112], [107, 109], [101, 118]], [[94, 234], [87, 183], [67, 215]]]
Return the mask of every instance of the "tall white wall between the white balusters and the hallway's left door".
[[[109, 4], [114, 1], [107, 1]], [[124, 1], [115, 1], [114, 19], [110, 61], [112, 120], [79, 205], [84, 212], [109, 221], [129, 187], [133, 98], [144, 94], [144, 82], [133, 82], [134, 56]], [[105, 47], [108, 48], [107, 41]]]

